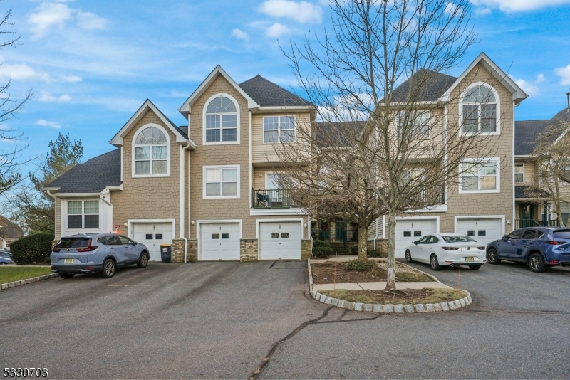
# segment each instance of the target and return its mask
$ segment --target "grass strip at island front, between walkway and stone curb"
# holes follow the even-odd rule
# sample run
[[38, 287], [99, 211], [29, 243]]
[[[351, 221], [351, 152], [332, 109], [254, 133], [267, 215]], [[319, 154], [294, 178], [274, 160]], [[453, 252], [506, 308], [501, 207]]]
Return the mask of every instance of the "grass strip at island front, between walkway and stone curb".
[[406, 289], [389, 292], [384, 290], [322, 290], [320, 292], [328, 297], [346, 300], [348, 302], [380, 303], [380, 304], [415, 304], [438, 303], [459, 300], [467, 297], [464, 290], [459, 289]]

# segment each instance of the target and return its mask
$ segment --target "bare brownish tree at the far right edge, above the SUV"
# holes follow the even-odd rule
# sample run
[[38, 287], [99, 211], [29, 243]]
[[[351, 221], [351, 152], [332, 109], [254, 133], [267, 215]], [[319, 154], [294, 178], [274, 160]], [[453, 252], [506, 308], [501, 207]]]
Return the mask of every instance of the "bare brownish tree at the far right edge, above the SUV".
[[549, 199], [562, 223], [562, 206], [570, 205], [570, 122], [561, 120], [537, 135], [532, 156], [538, 181], [526, 191], [529, 198]]

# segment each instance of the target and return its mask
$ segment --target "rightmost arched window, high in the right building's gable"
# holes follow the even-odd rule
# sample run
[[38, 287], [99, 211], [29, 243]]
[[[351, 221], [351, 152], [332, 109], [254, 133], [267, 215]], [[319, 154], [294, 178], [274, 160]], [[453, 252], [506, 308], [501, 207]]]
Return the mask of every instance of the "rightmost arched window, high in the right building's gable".
[[486, 83], [474, 83], [461, 95], [460, 120], [464, 134], [499, 134], [499, 94]]

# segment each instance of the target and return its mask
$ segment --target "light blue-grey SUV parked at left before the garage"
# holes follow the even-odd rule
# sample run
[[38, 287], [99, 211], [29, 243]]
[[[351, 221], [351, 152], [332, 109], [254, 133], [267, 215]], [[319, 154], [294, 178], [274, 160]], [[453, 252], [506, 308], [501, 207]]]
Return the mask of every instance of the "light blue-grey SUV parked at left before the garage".
[[136, 264], [145, 268], [148, 250], [126, 236], [115, 233], [87, 233], [61, 238], [51, 250], [51, 271], [62, 278], [81, 273], [98, 273], [111, 278], [117, 267]]

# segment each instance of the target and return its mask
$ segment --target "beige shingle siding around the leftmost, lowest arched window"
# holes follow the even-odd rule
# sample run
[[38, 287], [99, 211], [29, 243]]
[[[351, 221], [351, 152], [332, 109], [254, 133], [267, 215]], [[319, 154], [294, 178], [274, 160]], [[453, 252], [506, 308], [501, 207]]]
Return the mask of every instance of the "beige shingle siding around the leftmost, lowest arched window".
[[[167, 130], [170, 137], [170, 176], [133, 178], [133, 139], [135, 132], [145, 124], [154, 123]], [[123, 137], [123, 191], [111, 192], [113, 226], [124, 226], [128, 219], [175, 219], [178, 236], [180, 226], [180, 151], [175, 134], [154, 112], [148, 110]], [[130, 232], [130, 231], [129, 231]]]

